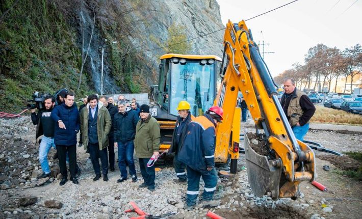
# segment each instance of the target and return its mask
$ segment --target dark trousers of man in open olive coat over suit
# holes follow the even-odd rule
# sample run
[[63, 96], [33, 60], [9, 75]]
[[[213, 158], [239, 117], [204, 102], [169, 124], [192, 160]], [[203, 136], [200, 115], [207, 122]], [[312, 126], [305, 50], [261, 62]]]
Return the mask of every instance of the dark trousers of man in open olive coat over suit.
[[99, 166], [99, 158], [100, 162], [102, 163], [102, 174], [108, 174], [108, 154], [107, 154], [107, 148], [104, 148], [102, 150], [99, 150], [98, 143], [88, 144], [89, 148], [89, 154], [91, 156], [91, 161], [94, 169], [94, 173], [96, 175], [100, 174], [100, 166]]

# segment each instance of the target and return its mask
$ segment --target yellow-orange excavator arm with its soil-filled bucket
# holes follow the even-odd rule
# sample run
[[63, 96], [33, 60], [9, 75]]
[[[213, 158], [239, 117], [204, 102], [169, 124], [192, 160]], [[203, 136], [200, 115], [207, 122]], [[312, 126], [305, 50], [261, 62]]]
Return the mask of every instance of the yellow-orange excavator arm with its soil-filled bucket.
[[[224, 121], [216, 131], [217, 144], [226, 144], [240, 90], [248, 105], [268, 154], [258, 154], [245, 133], [245, 156], [250, 186], [257, 196], [273, 199], [299, 196], [299, 183], [316, 178], [315, 155], [298, 141], [277, 98], [269, 70], [244, 21], [226, 25], [224, 53], [220, 70], [221, 87], [215, 104], [222, 107]], [[232, 146], [230, 146], [232, 149]]]

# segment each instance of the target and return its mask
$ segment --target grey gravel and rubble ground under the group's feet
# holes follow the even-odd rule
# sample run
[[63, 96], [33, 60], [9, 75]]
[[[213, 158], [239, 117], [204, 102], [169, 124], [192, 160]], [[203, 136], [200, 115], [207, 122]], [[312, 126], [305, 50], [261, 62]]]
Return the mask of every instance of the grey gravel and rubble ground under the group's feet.
[[[192, 211], [185, 210], [187, 185], [172, 182], [176, 176], [174, 170], [168, 165], [160, 166], [161, 170], [157, 172], [156, 176], [156, 190], [153, 192], [146, 188], [138, 188], [143, 180], [137, 159], [138, 182], [133, 183], [132, 180], [127, 180], [123, 183], [116, 183], [119, 178], [118, 168], [109, 174], [109, 182], [101, 180], [93, 182], [94, 173], [90, 161], [87, 160], [88, 154], [84, 153], [83, 148], [77, 148], [77, 159], [83, 170], [79, 185], [68, 181], [64, 186], [59, 186], [59, 180], [55, 177], [58, 174], [39, 183], [39, 180], [33, 177], [34, 171], [35, 173], [41, 172], [34, 135], [35, 126], [32, 125], [30, 117], [13, 120], [0, 119], [0, 138], [2, 140], [0, 145], [0, 168], [2, 168], [0, 184], [3, 189], [0, 193], [0, 218], [128, 218], [136, 216], [134, 212], [124, 212], [131, 208], [131, 205], [128, 204], [130, 201], [134, 201], [145, 212], [161, 215], [164, 218], [206, 218], [205, 214], [209, 210], [226, 218], [317, 219], [335, 215], [339, 218], [343, 217], [340, 214], [330, 213], [329, 209], [324, 211], [324, 208], [320, 207], [321, 204], [327, 204], [326, 207], [330, 208], [332, 212], [334, 212], [333, 206], [327, 201], [323, 201], [321, 197], [315, 197], [319, 195], [317, 189], [309, 192], [310, 187], [313, 188], [310, 184], [303, 184], [301, 197], [297, 201], [291, 199], [273, 201], [266, 196], [255, 197], [248, 183], [243, 155], [239, 158], [239, 172], [236, 175], [229, 178], [219, 177], [215, 199], [219, 199], [221, 205], [214, 209], [198, 205]], [[338, 151], [342, 151], [341, 148], [344, 147], [337, 146], [335, 144], [337, 142], [344, 142], [346, 151], [349, 148], [361, 150], [361, 138], [358, 134], [311, 131], [307, 134], [306, 139], [318, 139], [323, 146]], [[243, 143], [241, 142], [241, 144]], [[58, 165], [56, 162], [52, 162], [51, 166], [53, 169], [57, 169]], [[222, 169], [227, 170], [228, 168], [218, 168], [218, 170]], [[16, 179], [21, 179], [21, 181], [17, 182]], [[342, 180], [345, 180], [345, 177]], [[201, 181], [200, 191], [202, 189], [203, 182]], [[36, 198], [35, 203], [35, 198], [30, 197]], [[24, 206], [24, 203], [29, 205]]]

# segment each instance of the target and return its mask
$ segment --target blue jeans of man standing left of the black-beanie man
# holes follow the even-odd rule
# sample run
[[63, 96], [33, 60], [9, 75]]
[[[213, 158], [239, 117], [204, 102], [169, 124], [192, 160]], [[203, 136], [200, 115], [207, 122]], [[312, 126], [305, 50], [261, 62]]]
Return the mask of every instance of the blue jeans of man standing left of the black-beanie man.
[[121, 171], [121, 177], [127, 178], [126, 163], [130, 168], [131, 176], [136, 175], [135, 161], [133, 160], [133, 151], [135, 150], [133, 141], [127, 143], [117, 142], [117, 144], [118, 144], [118, 167], [119, 170]]

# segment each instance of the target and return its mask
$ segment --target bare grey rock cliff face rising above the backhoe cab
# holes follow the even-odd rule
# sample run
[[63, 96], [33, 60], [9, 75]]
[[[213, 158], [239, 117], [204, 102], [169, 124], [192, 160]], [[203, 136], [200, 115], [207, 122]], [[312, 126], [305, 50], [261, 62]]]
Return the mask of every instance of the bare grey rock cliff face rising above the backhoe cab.
[[[160, 46], [150, 40], [156, 38], [159, 42], [167, 41], [168, 27], [175, 23], [183, 25], [187, 30], [187, 38], [192, 39], [216, 30], [224, 28], [221, 22], [220, 8], [216, 0], [184, 0], [169, 1], [146, 0], [147, 21], [135, 27], [141, 35], [132, 35], [131, 39], [136, 47], [141, 51], [159, 48]], [[132, 16], [139, 16], [134, 13]], [[214, 54], [222, 55], [222, 39], [224, 31], [219, 31], [204, 37], [190, 41], [192, 44], [192, 54]], [[144, 39], [143, 37], [146, 37]], [[148, 59], [159, 62], [159, 57], [166, 53], [164, 49], [146, 51], [144, 54]]]

